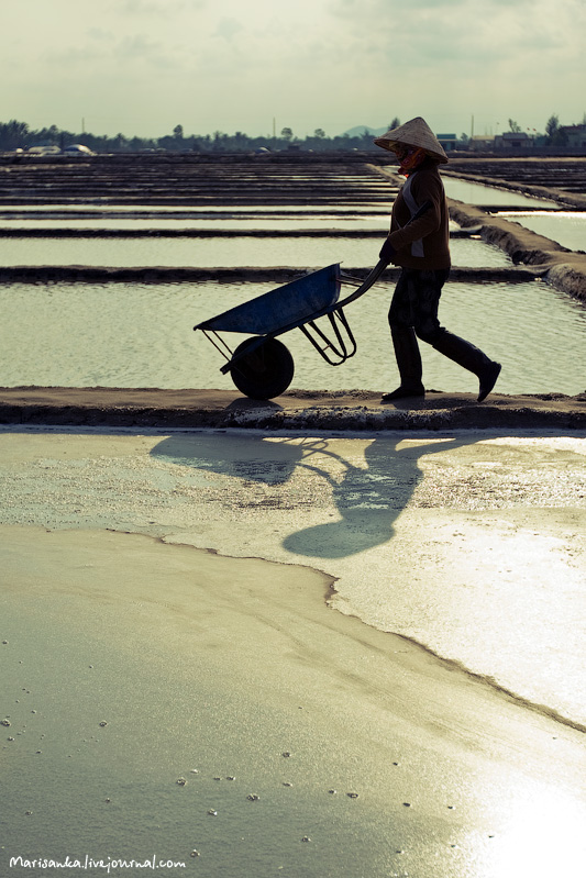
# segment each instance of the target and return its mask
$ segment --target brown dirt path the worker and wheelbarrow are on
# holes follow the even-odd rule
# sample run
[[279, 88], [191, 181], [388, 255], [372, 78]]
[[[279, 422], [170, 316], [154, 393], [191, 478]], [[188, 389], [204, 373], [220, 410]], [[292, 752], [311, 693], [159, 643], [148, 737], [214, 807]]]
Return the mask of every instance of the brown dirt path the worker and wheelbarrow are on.
[[259, 402], [223, 390], [0, 388], [0, 424], [109, 427], [453, 430], [586, 427], [586, 392], [508, 397], [428, 392], [380, 405], [364, 390], [288, 391]]

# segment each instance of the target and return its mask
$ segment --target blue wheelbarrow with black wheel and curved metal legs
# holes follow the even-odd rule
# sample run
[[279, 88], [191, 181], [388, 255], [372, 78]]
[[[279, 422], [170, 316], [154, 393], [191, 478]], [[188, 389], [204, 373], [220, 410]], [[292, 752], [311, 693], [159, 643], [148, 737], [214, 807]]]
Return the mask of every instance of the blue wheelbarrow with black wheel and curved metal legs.
[[[295, 371], [294, 358], [277, 336], [299, 329], [331, 366], [345, 363], [356, 353], [356, 341], [344, 308], [371, 289], [386, 267], [386, 262], [379, 262], [361, 282], [343, 274], [335, 263], [204, 320], [194, 330], [201, 330], [228, 360], [220, 371], [230, 373], [241, 393], [251, 399], [273, 399], [287, 390]], [[340, 299], [344, 282], [357, 289]], [[325, 327], [317, 325], [320, 318], [325, 318]], [[252, 337], [232, 351], [220, 332]]]

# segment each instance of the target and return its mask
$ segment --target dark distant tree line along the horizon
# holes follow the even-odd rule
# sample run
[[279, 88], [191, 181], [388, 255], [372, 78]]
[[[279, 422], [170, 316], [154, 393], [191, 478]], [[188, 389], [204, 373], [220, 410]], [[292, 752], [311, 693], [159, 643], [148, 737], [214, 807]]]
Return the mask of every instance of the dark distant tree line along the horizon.
[[[586, 122], [586, 116], [585, 120]], [[397, 127], [400, 120], [395, 118], [389, 123], [389, 129]], [[509, 130], [512, 132], [521, 131], [519, 124], [509, 119]], [[292, 129], [284, 127], [277, 136], [256, 136], [251, 137], [244, 132], [236, 131], [234, 134], [224, 134], [217, 131], [214, 134], [185, 134], [183, 125], [176, 125], [170, 134], [163, 137], [128, 137], [124, 134], [117, 134], [113, 137], [96, 135], [87, 132], [76, 133], [65, 131], [51, 125], [33, 130], [26, 122], [10, 120], [0, 122], [0, 149], [27, 149], [32, 146], [57, 146], [65, 148], [70, 144], [82, 144], [96, 153], [140, 153], [140, 152], [176, 152], [176, 153], [253, 153], [255, 151], [268, 149], [276, 152], [280, 149], [303, 149], [313, 152], [327, 152], [330, 149], [352, 151], [352, 149], [375, 149], [373, 145], [374, 132], [365, 127], [361, 133], [340, 134], [329, 137], [323, 129], [316, 129], [312, 135], [297, 137]], [[545, 125], [545, 132], [532, 134], [534, 140], [544, 146], [563, 146], [567, 140], [563, 126], [560, 125], [557, 115], [552, 115]], [[458, 144], [462, 148], [468, 145], [468, 135], [461, 134]]]

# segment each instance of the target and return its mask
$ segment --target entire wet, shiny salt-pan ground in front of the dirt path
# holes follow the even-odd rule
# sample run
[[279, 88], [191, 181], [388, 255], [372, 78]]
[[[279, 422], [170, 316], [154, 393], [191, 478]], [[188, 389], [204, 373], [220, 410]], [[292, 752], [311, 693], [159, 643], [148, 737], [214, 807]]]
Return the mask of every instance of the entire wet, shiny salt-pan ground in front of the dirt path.
[[2, 856], [578, 874], [585, 448], [4, 430]]

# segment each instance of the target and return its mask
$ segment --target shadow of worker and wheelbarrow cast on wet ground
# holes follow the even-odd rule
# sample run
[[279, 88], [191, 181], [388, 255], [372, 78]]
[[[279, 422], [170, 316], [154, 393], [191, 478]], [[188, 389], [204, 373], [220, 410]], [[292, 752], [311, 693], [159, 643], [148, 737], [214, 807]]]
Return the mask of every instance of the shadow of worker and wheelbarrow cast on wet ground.
[[[245, 490], [244, 497], [233, 498], [236, 509], [239, 504], [263, 510], [273, 507], [291, 510], [296, 521], [309, 518], [309, 526], [283, 540], [288, 552], [342, 558], [388, 542], [397, 516], [423, 477], [420, 458], [474, 441], [465, 436], [419, 440], [386, 435], [366, 440], [364, 453], [361, 447], [351, 458], [334, 451], [336, 444], [325, 438], [235, 433], [223, 442], [223, 436], [211, 433], [176, 434], [156, 445], [152, 454], [237, 479]], [[265, 486], [261, 493], [255, 490], [258, 485]], [[339, 515], [335, 520], [332, 502]], [[316, 524], [318, 518], [322, 521]]]

